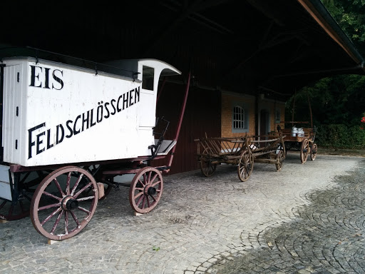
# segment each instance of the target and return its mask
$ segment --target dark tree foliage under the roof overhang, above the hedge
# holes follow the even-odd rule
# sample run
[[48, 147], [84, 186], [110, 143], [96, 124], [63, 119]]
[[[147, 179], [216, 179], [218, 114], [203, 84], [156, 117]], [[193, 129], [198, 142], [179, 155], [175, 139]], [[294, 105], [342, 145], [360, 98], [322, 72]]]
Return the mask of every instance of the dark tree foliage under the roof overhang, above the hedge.
[[287, 101], [286, 119], [310, 121], [310, 107], [314, 125], [359, 125], [365, 111], [364, 95], [364, 76], [339, 75], [322, 78], [312, 86], [302, 88]]

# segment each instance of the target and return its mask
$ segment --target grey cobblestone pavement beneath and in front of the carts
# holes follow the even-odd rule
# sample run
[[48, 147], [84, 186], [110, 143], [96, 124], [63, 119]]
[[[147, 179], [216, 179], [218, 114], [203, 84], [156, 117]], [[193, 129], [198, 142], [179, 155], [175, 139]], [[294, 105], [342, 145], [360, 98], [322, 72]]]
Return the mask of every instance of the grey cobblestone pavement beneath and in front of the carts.
[[365, 158], [288, 153], [165, 176], [158, 207], [133, 215], [128, 188], [99, 201], [81, 233], [48, 245], [30, 218], [0, 223], [0, 273], [365, 273]]

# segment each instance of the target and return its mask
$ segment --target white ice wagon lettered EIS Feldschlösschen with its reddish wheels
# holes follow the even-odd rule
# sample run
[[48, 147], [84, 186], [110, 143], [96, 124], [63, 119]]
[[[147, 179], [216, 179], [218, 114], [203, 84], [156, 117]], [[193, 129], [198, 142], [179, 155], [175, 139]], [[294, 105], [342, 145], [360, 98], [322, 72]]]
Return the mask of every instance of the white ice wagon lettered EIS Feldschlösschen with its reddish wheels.
[[[163, 123], [157, 131], [155, 118], [158, 81], [180, 71], [155, 59], [81, 63], [91, 68], [38, 56], [0, 63], [0, 219], [30, 213], [34, 228], [50, 240], [80, 233], [112, 188], [129, 187], [135, 213], [155, 208], [190, 85], [189, 75], [176, 138], [165, 140], [169, 122], [157, 119]], [[149, 166], [165, 157], [168, 165]], [[116, 182], [123, 174], [134, 177]]]

